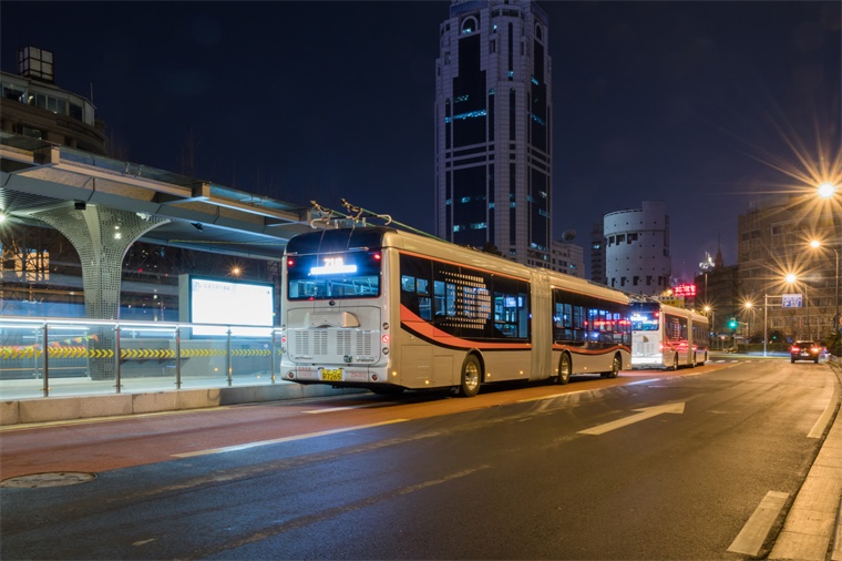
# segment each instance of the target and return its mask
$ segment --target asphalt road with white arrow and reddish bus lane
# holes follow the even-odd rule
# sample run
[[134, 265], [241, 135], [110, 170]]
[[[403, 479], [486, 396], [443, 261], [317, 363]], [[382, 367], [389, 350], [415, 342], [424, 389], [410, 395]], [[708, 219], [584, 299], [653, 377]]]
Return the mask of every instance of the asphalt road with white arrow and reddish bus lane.
[[3, 431], [2, 478], [97, 477], [0, 489], [0, 558], [740, 559], [834, 379], [768, 359]]

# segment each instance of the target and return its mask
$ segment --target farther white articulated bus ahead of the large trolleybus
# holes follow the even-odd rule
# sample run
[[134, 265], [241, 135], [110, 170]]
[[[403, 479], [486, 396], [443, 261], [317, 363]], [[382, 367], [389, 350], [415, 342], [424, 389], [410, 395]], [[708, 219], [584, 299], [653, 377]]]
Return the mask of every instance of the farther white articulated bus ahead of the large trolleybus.
[[708, 359], [708, 318], [659, 302], [632, 304], [632, 367], [695, 367]]

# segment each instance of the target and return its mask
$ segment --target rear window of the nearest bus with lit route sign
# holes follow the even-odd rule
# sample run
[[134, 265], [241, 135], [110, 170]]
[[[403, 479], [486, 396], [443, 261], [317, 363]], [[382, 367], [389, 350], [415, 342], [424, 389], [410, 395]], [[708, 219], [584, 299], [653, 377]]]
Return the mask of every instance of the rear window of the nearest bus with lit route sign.
[[320, 300], [380, 295], [379, 251], [295, 255], [287, 258], [287, 298]]

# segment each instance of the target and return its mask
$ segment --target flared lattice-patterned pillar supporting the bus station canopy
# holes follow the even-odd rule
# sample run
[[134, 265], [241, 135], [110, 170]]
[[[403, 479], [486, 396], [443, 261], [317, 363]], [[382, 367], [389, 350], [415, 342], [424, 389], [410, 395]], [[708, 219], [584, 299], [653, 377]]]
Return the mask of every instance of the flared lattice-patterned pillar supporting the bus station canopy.
[[[120, 318], [120, 285], [129, 247], [150, 230], [170, 222], [96, 205], [53, 208], [32, 217], [64, 234], [76, 249], [82, 264], [85, 316], [91, 319]], [[91, 335], [96, 336], [91, 341], [92, 349], [114, 349], [115, 334], [111, 328], [92, 329]], [[116, 359], [91, 358], [91, 378], [114, 379]]]

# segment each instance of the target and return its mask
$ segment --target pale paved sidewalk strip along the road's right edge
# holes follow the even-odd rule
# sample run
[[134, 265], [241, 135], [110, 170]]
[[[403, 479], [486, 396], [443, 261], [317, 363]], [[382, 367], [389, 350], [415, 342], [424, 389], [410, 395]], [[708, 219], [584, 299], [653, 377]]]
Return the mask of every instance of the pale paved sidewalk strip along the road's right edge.
[[[842, 365], [831, 368], [842, 381]], [[839, 385], [833, 399], [839, 404]], [[842, 412], [842, 411], [840, 411]], [[803, 561], [842, 561], [842, 415], [835, 416], [833, 426], [798, 491], [783, 530], [768, 559], [797, 559]]]

